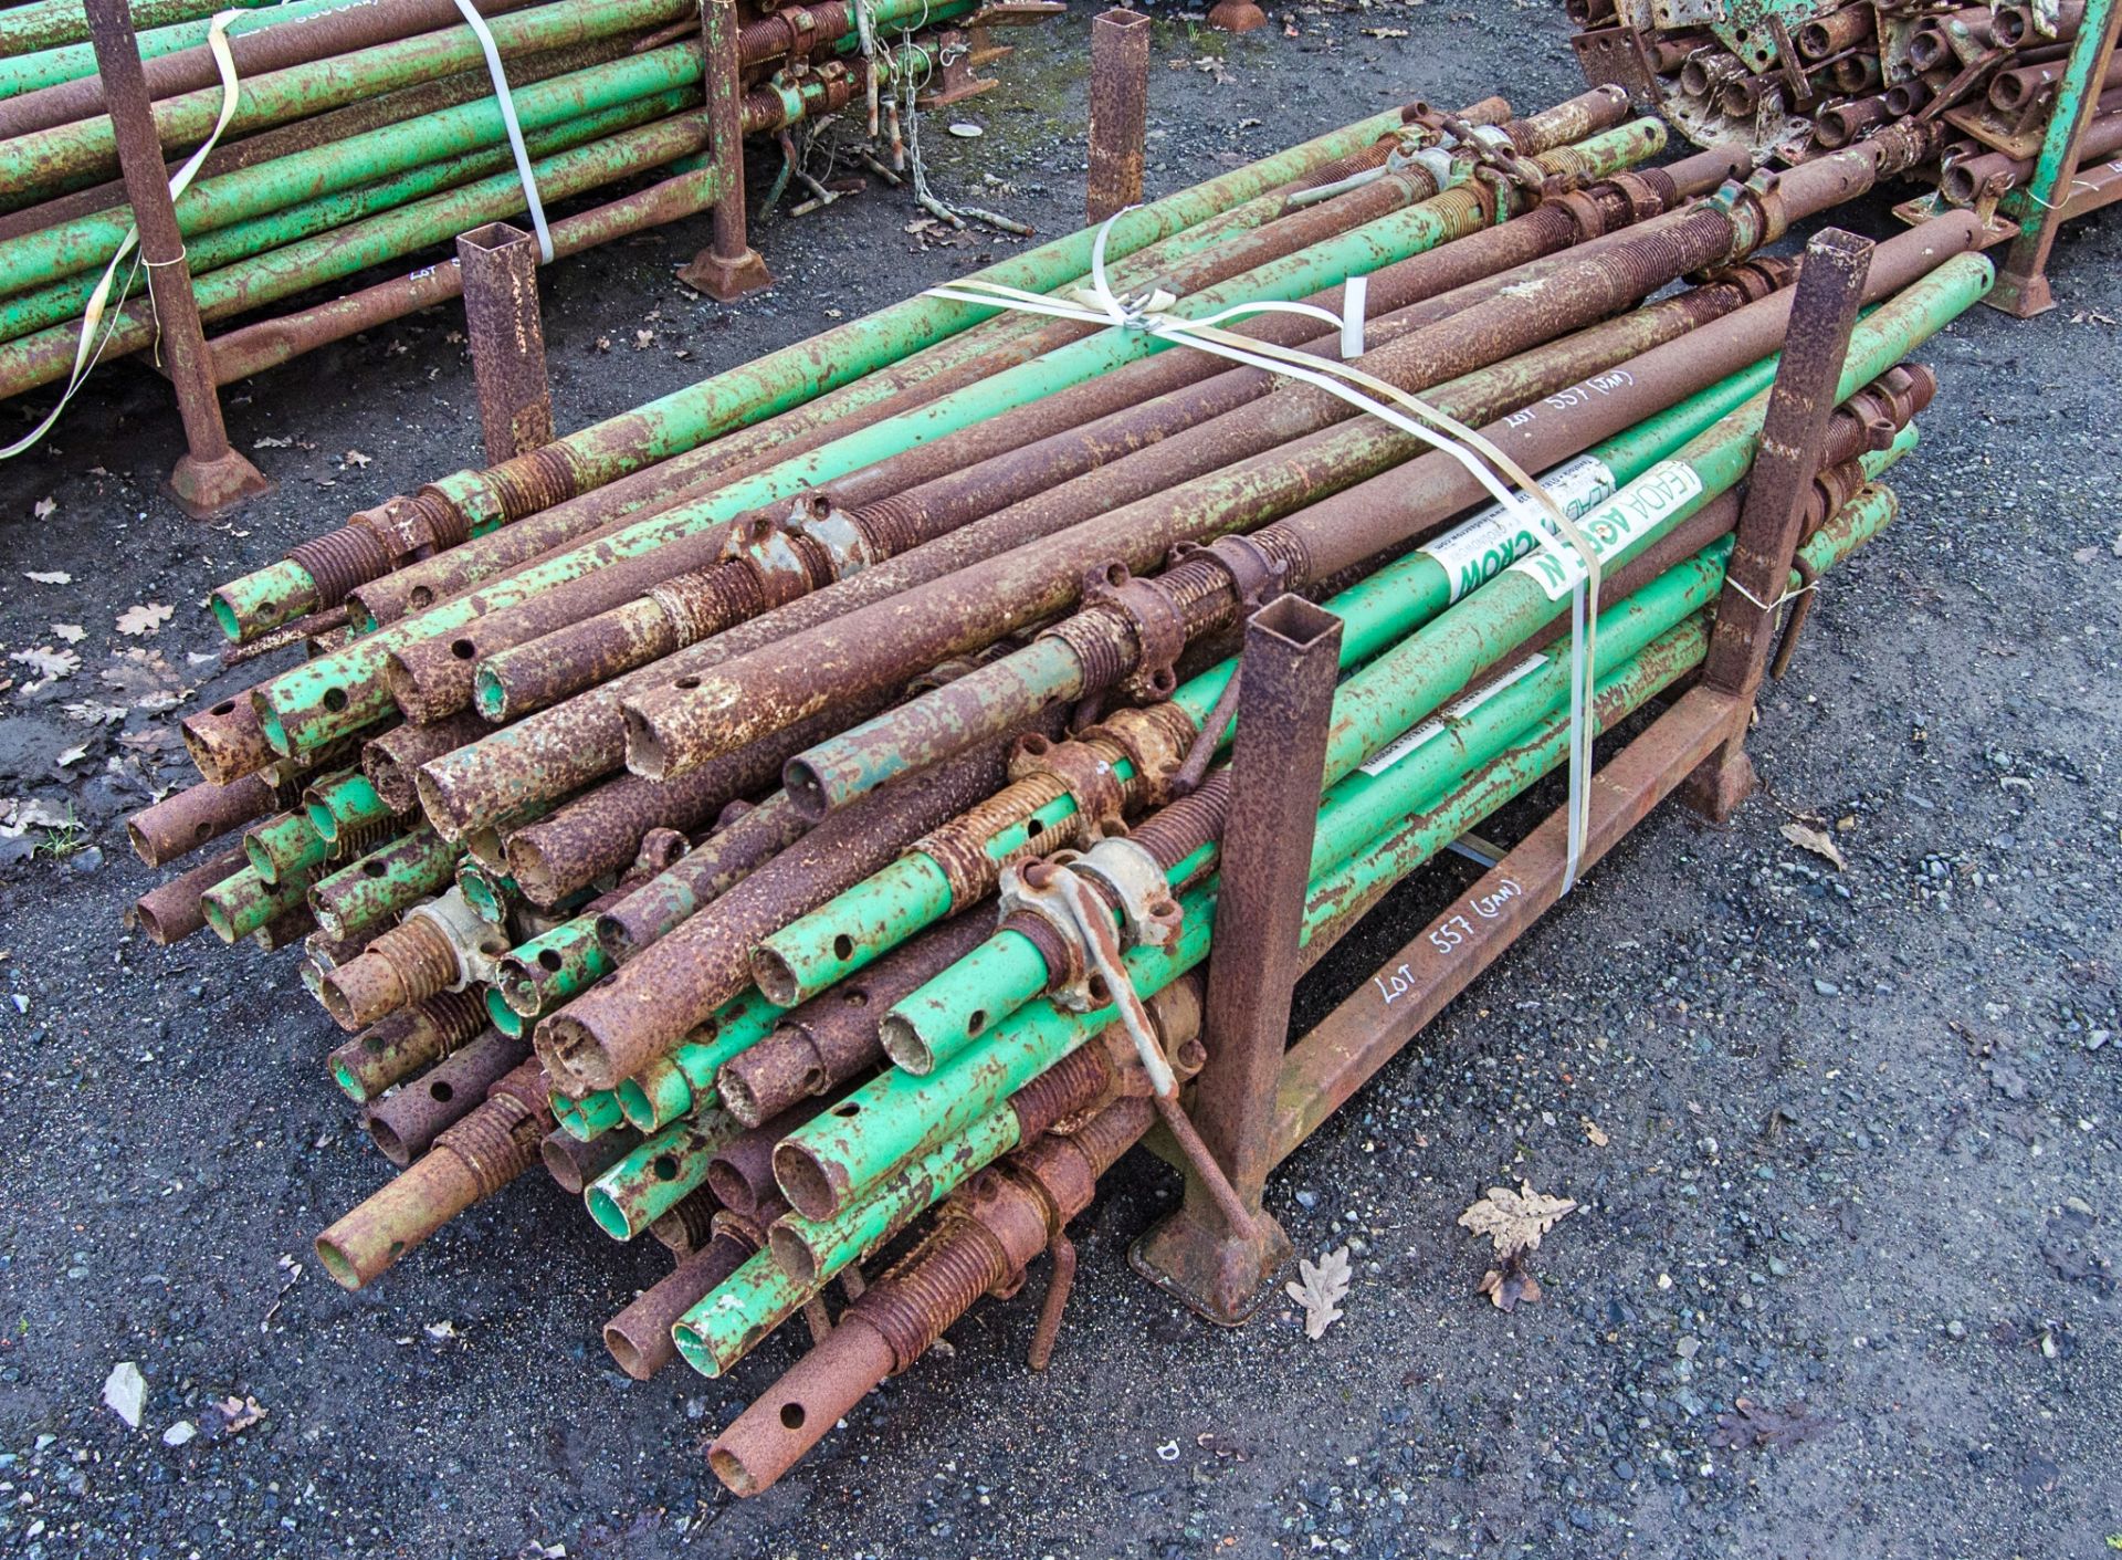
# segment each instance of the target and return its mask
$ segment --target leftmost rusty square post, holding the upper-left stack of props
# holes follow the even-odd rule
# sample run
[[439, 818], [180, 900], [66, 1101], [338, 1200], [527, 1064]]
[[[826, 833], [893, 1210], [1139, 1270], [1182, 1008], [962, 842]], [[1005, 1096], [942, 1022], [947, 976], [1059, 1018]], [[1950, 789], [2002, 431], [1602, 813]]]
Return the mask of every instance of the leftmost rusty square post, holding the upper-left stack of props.
[[132, 202], [140, 229], [146, 291], [161, 323], [161, 361], [185, 422], [185, 454], [170, 473], [170, 495], [193, 520], [212, 520], [246, 499], [272, 492], [272, 482], [229, 446], [229, 431], [221, 420], [214, 361], [199, 327], [199, 301], [191, 293], [185, 236], [176, 227], [170, 172], [155, 132], [146, 72], [140, 68], [132, 6], [125, 0], [87, 0], [87, 15], [95, 70], [104, 79], [104, 102], [119, 144], [125, 200]]

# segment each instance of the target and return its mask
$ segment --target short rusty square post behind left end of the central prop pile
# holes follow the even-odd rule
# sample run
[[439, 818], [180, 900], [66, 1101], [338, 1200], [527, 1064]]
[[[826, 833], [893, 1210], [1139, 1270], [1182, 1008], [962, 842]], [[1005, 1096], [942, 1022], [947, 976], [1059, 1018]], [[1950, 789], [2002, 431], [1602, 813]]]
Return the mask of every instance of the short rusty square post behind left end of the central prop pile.
[[465, 335], [471, 337], [486, 465], [501, 465], [552, 444], [537, 240], [509, 223], [486, 223], [458, 236], [456, 265], [465, 284]]

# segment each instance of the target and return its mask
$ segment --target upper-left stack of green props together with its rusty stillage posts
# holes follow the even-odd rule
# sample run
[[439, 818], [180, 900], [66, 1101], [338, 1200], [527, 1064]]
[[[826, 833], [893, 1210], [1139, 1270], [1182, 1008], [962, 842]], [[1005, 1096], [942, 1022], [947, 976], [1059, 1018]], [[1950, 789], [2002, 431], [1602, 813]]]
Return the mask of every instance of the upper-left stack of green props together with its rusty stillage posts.
[[[770, 280], [747, 244], [747, 134], [777, 136], [794, 159], [792, 127], [866, 104], [881, 136], [872, 163], [898, 178], [887, 161], [908, 166], [900, 108], [993, 85], [972, 74], [1008, 53], [987, 25], [1059, 8], [17, 6], [0, 13], [0, 397], [70, 393], [102, 359], [166, 352], [193, 461], [210, 467], [180, 467], [176, 490], [193, 514], [219, 512], [263, 480], [227, 450], [216, 386], [456, 297], [460, 261], [435, 259], [460, 236], [477, 250], [482, 233], [499, 242], [486, 225], [528, 212], [528, 270], [711, 210], [713, 242], [681, 278], [732, 301]], [[405, 270], [202, 335], [380, 265]], [[547, 410], [537, 441], [550, 437]], [[490, 458], [503, 454], [514, 450]]]

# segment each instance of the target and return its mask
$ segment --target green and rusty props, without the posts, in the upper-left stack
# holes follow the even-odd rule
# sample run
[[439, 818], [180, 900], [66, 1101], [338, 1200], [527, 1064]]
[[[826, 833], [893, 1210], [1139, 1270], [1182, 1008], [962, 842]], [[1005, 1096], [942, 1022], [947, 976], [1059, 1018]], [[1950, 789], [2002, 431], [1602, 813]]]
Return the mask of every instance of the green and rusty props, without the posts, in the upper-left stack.
[[[885, 0], [876, 17], [879, 25], [906, 25], [968, 6]], [[721, 200], [726, 170], [702, 106], [702, 40], [675, 36], [688, 19], [696, 23], [694, 0], [486, 8], [547, 204], [641, 174], [660, 180], [556, 221], [556, 255]], [[743, 132], [830, 112], [862, 89], [859, 55], [836, 57], [857, 42], [845, 0], [762, 15], [736, 28], [732, 42], [747, 83]], [[174, 204], [204, 320], [418, 255], [524, 208], [501, 102], [477, 40], [448, 0], [310, 0], [261, 15], [236, 45], [244, 68], [236, 117], [204, 176]], [[151, 85], [170, 85], [155, 106], [155, 129], [163, 151], [180, 153], [212, 129], [223, 87], [204, 45], [155, 66], [163, 70], [151, 72]], [[123, 189], [100, 183], [117, 168], [112, 121], [98, 112], [100, 87], [91, 76], [0, 106], [0, 125], [15, 132], [0, 142], [0, 202], [28, 206], [4, 219], [0, 238], [0, 395], [68, 376], [83, 308], [132, 225]], [[38, 102], [53, 93], [64, 102]], [[439, 270], [454, 276], [454, 265]], [[144, 280], [121, 274], [108, 335], [100, 335], [104, 357], [155, 340], [144, 297], [119, 308], [125, 284], [140, 291]], [[448, 291], [450, 278], [397, 284], [397, 312]], [[238, 342], [214, 344], [214, 371], [227, 382], [373, 323], [376, 310], [333, 308], [248, 327]]]

